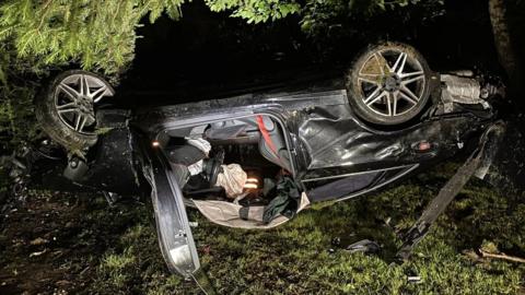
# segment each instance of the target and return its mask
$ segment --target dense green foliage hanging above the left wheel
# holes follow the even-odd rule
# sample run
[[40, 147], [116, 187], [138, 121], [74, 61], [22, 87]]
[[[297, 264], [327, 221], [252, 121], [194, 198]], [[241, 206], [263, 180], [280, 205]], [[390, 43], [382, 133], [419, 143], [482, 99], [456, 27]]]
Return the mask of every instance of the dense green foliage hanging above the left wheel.
[[84, 69], [119, 72], [133, 57], [136, 27], [150, 13], [178, 19], [182, 0], [12, 0], [0, 5], [0, 43], [20, 58], [45, 64], [75, 61]]

